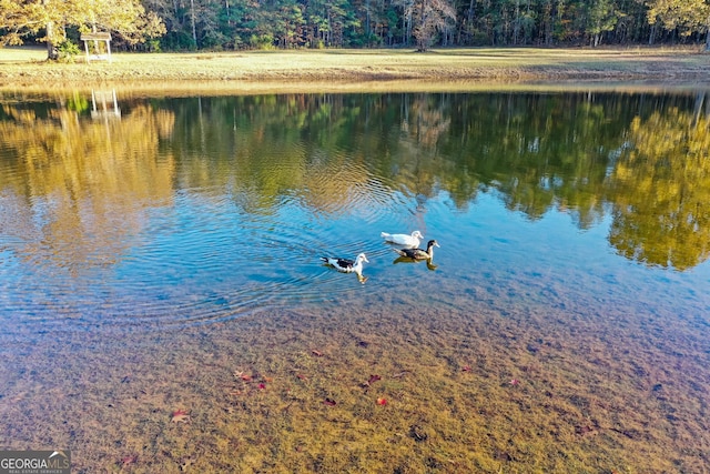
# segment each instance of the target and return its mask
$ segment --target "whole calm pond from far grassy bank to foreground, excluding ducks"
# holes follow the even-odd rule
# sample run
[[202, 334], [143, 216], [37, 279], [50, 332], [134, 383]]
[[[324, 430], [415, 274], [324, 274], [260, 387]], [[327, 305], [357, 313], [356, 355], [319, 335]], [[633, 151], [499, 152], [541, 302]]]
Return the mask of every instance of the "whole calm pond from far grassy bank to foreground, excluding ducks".
[[703, 472], [708, 92], [4, 93], [0, 447]]

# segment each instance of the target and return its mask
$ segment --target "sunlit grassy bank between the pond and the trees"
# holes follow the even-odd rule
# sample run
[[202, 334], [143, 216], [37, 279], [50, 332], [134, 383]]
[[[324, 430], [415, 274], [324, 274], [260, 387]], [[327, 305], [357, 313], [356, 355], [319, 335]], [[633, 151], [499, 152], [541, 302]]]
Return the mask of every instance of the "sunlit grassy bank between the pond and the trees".
[[0, 88], [91, 87], [139, 89], [200, 82], [244, 90], [349, 90], [408, 83], [710, 84], [710, 54], [699, 49], [447, 49], [300, 50], [221, 53], [119, 53], [109, 62], [44, 61], [43, 49], [0, 49]]

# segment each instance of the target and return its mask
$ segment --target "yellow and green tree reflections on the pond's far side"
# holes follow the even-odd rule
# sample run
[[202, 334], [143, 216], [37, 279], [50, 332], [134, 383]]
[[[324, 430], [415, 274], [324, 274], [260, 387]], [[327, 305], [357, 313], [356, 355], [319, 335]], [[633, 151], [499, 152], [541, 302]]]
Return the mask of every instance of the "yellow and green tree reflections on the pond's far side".
[[[446, 191], [466, 208], [495, 191], [532, 220], [556, 209], [589, 229], [610, 215], [619, 254], [682, 271], [708, 258], [706, 101], [702, 92], [150, 99], [123, 101], [111, 123], [90, 120], [75, 98], [8, 102], [0, 190], [13, 212], [0, 220], [6, 232], [36, 235], [18, 235], [34, 241], [28, 254], [39, 239], [75, 264], [110, 261], [120, 249], [101, 249], [180, 189], [229, 190], [265, 214], [284, 196], [327, 214], [390, 192], [423, 202]], [[77, 103], [85, 107], [67, 107]]]

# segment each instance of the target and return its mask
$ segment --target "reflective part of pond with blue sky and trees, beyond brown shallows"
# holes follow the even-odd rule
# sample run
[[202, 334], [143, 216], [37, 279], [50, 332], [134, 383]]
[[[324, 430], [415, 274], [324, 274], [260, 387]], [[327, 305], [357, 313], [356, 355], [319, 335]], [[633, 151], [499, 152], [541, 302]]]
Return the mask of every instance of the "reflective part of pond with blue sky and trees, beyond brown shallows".
[[[622, 304], [707, 325], [708, 119], [697, 101], [129, 100], [111, 123], [47, 113], [51, 103], [7, 108], [0, 315], [8, 332], [150, 331], [363, 299], [589, 317]], [[30, 129], [18, 118], [32, 110]], [[661, 132], [683, 132], [682, 143], [649, 143]], [[676, 204], [678, 186], [688, 191]], [[413, 230], [440, 243], [436, 268], [393, 264], [379, 233]], [[365, 285], [320, 262], [361, 252]]]

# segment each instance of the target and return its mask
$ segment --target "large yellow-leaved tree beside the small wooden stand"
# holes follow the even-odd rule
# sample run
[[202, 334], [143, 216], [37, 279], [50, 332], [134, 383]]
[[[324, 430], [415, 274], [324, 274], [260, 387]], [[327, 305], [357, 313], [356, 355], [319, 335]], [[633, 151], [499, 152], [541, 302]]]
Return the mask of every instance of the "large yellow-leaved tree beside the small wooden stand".
[[57, 59], [55, 46], [67, 40], [68, 27], [115, 31], [133, 44], [165, 32], [140, 0], [0, 0], [0, 46], [22, 44], [43, 31], [39, 40], [47, 42], [48, 59]]

